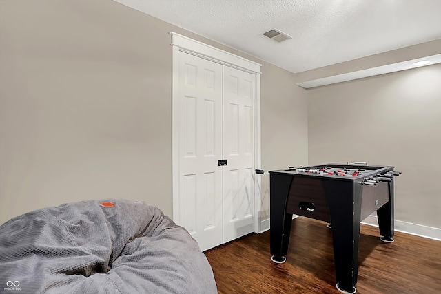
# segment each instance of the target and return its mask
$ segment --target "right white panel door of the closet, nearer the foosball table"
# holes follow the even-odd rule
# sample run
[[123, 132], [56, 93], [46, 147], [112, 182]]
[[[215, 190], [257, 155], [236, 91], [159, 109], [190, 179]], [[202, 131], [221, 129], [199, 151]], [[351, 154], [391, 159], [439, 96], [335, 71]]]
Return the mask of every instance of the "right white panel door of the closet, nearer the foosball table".
[[254, 231], [254, 75], [223, 67], [223, 242]]

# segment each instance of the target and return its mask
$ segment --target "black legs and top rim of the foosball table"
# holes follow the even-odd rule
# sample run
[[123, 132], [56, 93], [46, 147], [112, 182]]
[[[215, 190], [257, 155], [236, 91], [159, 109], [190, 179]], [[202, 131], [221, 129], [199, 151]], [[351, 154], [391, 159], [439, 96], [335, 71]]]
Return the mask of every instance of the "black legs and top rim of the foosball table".
[[[342, 166], [327, 164], [329, 166]], [[308, 167], [305, 167], [308, 168]], [[316, 178], [325, 191], [331, 220], [337, 287], [348, 293], [356, 291], [358, 276], [358, 245], [362, 214], [362, 180], [378, 172], [393, 171], [394, 167], [378, 167], [365, 176], [341, 177], [318, 174], [297, 174], [291, 170], [269, 171], [270, 174], [270, 243], [274, 260], [285, 260], [293, 213], [287, 212], [289, 191], [295, 177]], [[389, 201], [377, 211], [382, 240], [393, 242], [393, 178], [389, 185]], [[372, 213], [373, 211], [369, 212]], [[365, 211], [366, 212], [366, 211]], [[307, 215], [303, 215], [307, 216]], [[310, 216], [307, 216], [310, 217]], [[314, 218], [314, 217], [313, 217]]]

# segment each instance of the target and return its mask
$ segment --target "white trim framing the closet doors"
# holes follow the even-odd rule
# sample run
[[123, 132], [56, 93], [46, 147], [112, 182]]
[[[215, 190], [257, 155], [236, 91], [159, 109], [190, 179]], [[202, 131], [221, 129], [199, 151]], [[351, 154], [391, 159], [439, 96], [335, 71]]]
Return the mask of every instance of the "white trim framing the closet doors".
[[[179, 74], [179, 52], [186, 52], [194, 56], [214, 61], [222, 65], [234, 67], [254, 75], [254, 167], [260, 167], [260, 63], [250, 61], [230, 52], [220, 50], [211, 45], [190, 39], [187, 36], [170, 32], [172, 36], [172, 211], [173, 220], [180, 222], [179, 216], [179, 109], [178, 109], [178, 74]], [[254, 176], [254, 232], [260, 233], [260, 211], [261, 179], [253, 173]]]

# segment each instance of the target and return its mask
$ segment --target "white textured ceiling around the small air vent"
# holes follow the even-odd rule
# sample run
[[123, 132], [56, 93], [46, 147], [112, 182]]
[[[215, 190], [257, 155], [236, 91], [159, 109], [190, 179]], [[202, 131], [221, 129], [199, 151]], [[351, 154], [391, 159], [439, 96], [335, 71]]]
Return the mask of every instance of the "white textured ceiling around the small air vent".
[[295, 73], [441, 39], [441, 0], [115, 1]]

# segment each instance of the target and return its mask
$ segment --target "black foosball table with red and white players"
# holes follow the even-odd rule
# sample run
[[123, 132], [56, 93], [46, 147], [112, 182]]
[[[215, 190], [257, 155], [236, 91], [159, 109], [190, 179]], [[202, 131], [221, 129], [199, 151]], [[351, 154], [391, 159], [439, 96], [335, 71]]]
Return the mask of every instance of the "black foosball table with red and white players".
[[293, 214], [323, 220], [332, 230], [336, 288], [356, 293], [360, 222], [376, 211], [380, 239], [393, 242], [393, 177], [401, 174], [393, 169], [348, 162], [269, 171], [271, 260], [286, 260]]

